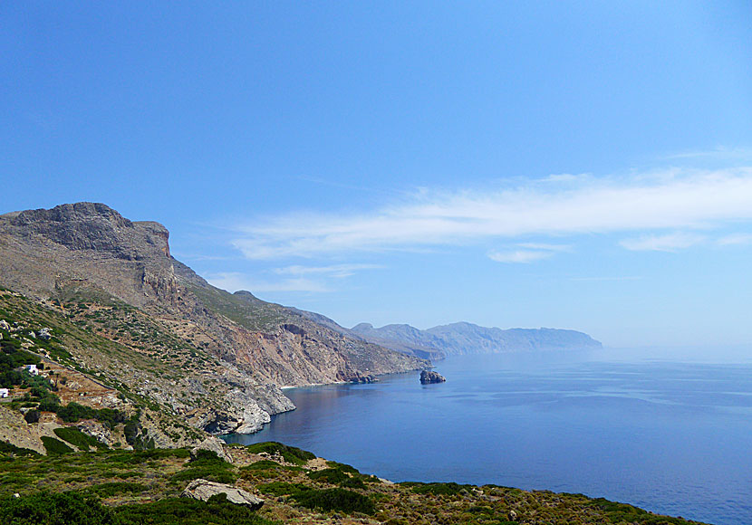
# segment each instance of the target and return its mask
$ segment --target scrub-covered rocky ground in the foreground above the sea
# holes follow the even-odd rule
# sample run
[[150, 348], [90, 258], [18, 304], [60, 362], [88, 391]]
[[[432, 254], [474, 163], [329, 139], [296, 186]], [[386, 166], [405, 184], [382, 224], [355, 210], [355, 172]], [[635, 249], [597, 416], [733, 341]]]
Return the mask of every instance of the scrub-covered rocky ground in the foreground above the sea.
[[[75, 444], [77, 437], [70, 439], [69, 444]], [[97, 452], [73, 452], [71, 447], [58, 446], [42, 456], [5, 445], [0, 453], [0, 522], [696, 523], [581, 494], [494, 485], [393, 483], [284, 444], [228, 445], [224, 453], [232, 463], [216, 453], [188, 449], [101, 447]], [[181, 497], [197, 479], [246, 491], [264, 500], [263, 506], [252, 511], [228, 502], [222, 494], [208, 501]]]

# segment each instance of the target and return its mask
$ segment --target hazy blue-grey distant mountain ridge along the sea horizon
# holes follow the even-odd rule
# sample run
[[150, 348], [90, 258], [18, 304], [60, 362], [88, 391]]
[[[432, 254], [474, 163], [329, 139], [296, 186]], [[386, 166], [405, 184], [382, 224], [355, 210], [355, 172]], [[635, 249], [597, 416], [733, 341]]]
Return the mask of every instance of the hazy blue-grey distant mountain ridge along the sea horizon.
[[373, 328], [361, 323], [352, 332], [387, 348], [433, 348], [447, 355], [497, 353], [518, 350], [601, 348], [603, 345], [583, 332], [568, 329], [498, 329], [468, 322], [421, 330], [407, 324]]

